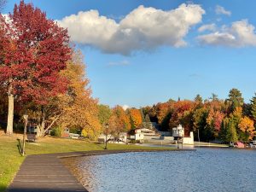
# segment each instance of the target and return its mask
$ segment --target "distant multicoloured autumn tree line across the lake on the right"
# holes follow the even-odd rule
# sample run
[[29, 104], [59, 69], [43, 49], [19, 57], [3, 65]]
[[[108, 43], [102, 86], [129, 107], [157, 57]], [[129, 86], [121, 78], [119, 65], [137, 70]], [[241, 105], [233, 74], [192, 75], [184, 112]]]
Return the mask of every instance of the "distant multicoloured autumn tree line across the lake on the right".
[[256, 95], [250, 103], [245, 103], [240, 90], [230, 90], [229, 98], [212, 96], [204, 100], [200, 95], [194, 101], [180, 99], [160, 102], [152, 107], [142, 108], [152, 121], [160, 125], [162, 131], [172, 131], [178, 124], [183, 125], [185, 134], [194, 131], [201, 141], [214, 139], [223, 142], [247, 142], [255, 136]]

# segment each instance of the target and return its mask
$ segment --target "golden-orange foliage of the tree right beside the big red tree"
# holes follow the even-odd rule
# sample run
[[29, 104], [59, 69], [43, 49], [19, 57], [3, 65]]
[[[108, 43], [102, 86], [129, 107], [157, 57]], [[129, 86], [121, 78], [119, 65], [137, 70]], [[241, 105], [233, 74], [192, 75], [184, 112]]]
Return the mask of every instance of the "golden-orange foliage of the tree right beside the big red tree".
[[102, 126], [97, 116], [97, 100], [91, 96], [83, 60], [81, 52], [77, 52], [73, 60], [67, 63], [67, 69], [61, 73], [69, 84], [67, 93], [61, 96], [65, 102], [60, 103], [61, 113], [56, 123], [63, 128], [82, 130], [84, 137], [95, 140], [102, 132]]

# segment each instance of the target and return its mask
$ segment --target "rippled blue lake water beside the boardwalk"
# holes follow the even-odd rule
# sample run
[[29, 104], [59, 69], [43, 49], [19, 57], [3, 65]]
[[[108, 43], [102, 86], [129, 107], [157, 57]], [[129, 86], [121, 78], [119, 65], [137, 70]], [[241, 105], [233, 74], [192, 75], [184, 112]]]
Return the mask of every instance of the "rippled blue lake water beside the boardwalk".
[[64, 159], [89, 191], [256, 191], [256, 150], [106, 154]]

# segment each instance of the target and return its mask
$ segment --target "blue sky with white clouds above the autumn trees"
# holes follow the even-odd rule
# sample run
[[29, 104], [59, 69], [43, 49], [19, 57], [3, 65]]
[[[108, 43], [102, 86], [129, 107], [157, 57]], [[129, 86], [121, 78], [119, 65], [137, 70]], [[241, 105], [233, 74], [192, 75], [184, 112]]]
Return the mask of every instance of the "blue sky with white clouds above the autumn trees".
[[249, 102], [256, 91], [253, 0], [26, 2], [68, 28], [103, 104], [143, 107], [212, 93], [224, 99], [232, 88]]

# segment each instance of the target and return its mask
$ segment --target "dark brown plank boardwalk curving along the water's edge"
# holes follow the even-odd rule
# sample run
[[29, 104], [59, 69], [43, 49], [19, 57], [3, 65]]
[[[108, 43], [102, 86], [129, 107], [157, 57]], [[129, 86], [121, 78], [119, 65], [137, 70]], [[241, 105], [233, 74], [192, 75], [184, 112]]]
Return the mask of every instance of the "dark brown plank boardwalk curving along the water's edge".
[[60, 158], [97, 154], [118, 154], [160, 150], [101, 150], [61, 154], [28, 155], [20, 171], [10, 184], [8, 192], [75, 192], [88, 191], [62, 165]]

